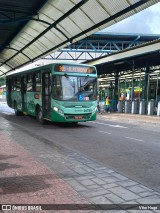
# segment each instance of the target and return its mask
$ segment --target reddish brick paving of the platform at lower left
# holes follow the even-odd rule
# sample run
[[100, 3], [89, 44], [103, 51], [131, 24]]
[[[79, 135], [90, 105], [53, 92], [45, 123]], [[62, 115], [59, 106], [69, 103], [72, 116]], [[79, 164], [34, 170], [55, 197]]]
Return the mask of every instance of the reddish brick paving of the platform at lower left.
[[[87, 203], [69, 184], [9, 138], [6, 131], [0, 131], [0, 138], [0, 204]], [[13, 212], [26, 212], [13, 208]]]

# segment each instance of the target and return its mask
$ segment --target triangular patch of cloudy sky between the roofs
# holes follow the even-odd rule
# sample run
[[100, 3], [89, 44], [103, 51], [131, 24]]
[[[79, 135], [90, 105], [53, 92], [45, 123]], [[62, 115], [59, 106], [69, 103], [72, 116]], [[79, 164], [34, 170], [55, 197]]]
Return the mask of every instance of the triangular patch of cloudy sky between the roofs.
[[154, 4], [101, 32], [160, 34], [160, 3]]

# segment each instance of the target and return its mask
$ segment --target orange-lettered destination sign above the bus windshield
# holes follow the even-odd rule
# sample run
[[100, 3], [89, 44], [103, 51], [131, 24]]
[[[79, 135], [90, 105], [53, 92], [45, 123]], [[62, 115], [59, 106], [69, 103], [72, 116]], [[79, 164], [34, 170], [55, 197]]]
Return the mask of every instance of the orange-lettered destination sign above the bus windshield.
[[54, 71], [96, 74], [96, 69], [94, 67], [68, 65], [68, 64], [57, 64], [55, 65]]

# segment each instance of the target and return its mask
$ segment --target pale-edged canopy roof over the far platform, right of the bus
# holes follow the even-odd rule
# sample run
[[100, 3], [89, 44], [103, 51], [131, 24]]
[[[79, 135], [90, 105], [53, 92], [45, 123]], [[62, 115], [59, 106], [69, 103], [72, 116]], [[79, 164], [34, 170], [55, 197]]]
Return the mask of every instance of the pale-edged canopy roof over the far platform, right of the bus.
[[98, 74], [102, 75], [122, 70], [141, 69], [148, 65], [159, 66], [159, 58], [160, 39], [157, 39], [85, 63], [96, 66]]

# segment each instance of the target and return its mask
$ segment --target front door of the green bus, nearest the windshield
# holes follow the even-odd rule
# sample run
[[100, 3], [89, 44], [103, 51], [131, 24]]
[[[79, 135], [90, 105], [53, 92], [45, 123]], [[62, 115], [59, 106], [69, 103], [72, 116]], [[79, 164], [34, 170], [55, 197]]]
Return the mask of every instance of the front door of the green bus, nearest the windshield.
[[51, 110], [50, 72], [42, 73], [42, 113], [49, 116]]

